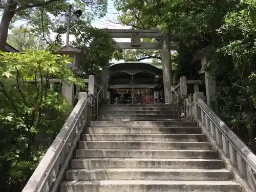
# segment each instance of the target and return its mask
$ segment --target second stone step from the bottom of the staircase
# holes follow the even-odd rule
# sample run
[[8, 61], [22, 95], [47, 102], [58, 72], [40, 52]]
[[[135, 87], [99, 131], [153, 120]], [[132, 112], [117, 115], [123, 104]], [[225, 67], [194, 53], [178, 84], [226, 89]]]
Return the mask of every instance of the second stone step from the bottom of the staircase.
[[95, 168], [69, 169], [67, 180], [186, 180], [228, 181], [226, 169], [189, 168]]

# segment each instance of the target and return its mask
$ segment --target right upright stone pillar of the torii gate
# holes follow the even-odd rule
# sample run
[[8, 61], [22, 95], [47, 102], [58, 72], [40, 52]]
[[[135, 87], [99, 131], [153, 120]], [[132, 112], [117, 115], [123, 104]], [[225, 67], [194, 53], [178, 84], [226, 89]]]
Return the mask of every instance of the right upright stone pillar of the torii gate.
[[172, 66], [170, 63], [170, 36], [163, 36], [162, 45], [162, 67], [163, 67], [163, 87], [164, 87], [164, 97], [165, 103], [170, 102], [170, 92], [169, 89], [172, 86]]

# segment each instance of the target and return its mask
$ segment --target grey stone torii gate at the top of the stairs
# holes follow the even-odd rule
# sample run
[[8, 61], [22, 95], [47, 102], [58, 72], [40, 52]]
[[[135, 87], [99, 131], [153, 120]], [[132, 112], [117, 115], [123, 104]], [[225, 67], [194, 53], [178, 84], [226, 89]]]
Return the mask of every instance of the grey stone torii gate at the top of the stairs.
[[[121, 49], [161, 49], [163, 84], [165, 102], [170, 102], [169, 89], [172, 86], [172, 65], [170, 62], [170, 50], [177, 50], [178, 46], [170, 42], [170, 36], [159, 30], [142, 29], [101, 29], [113, 38], [131, 38], [131, 42], [117, 42], [116, 46]], [[141, 42], [141, 38], [161, 38], [162, 42]], [[108, 88], [108, 65], [102, 68], [101, 83], [104, 86], [104, 95]]]

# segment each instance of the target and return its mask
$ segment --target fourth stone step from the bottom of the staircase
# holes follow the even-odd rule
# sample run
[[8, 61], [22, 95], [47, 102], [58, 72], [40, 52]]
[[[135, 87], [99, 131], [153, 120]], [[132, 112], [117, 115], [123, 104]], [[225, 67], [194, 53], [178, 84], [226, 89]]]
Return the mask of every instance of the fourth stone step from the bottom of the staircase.
[[76, 158], [180, 158], [217, 159], [211, 150], [76, 150]]

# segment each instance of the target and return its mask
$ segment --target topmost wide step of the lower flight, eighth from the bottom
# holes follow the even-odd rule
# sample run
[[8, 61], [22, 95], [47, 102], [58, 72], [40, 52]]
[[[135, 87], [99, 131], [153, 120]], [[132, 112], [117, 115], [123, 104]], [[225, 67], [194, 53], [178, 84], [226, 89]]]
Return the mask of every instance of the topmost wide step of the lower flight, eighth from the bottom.
[[88, 126], [111, 126], [111, 127], [197, 127], [197, 122], [188, 121], [183, 122], [181, 120], [176, 121], [89, 121]]

